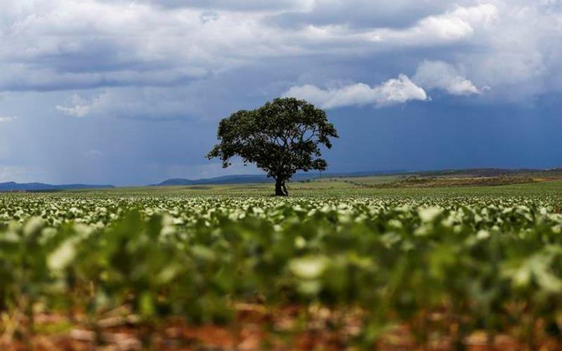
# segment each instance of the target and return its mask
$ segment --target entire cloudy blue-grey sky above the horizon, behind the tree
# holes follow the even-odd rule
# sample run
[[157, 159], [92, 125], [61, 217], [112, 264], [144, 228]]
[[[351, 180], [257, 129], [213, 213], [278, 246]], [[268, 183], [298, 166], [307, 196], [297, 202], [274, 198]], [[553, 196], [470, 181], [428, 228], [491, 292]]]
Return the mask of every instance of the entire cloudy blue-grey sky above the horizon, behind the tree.
[[259, 173], [204, 155], [277, 97], [332, 172], [562, 166], [562, 0], [2, 0], [0, 182]]

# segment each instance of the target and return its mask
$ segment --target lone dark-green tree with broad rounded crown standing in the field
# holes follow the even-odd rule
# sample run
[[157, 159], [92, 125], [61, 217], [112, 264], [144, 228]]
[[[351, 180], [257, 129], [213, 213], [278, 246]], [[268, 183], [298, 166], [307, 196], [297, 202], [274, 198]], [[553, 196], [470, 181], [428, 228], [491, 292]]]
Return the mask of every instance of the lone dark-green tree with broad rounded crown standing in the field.
[[241, 110], [218, 124], [219, 143], [207, 154], [219, 157], [223, 168], [230, 158], [242, 157], [244, 164], [256, 164], [275, 179], [275, 195], [287, 196], [285, 182], [296, 171], [327, 167], [320, 145], [332, 147], [329, 138], [338, 138], [326, 112], [305, 100], [277, 98], [257, 110]]

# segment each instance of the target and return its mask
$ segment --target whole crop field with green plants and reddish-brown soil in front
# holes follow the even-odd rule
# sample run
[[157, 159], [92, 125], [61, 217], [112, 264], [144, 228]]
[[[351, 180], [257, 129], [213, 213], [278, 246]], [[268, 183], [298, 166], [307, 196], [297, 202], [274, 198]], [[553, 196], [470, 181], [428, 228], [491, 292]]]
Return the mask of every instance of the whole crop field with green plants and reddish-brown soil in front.
[[0, 194], [0, 348], [562, 347], [561, 182], [271, 187]]

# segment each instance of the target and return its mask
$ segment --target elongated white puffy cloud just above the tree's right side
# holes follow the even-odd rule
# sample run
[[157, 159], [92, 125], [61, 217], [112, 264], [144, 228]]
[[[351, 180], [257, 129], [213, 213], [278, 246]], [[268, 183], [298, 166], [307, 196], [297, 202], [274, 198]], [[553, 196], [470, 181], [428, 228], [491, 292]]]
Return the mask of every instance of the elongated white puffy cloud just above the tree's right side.
[[284, 95], [303, 98], [325, 109], [364, 105], [384, 107], [412, 100], [428, 100], [424, 89], [410, 81], [405, 74], [372, 87], [363, 83], [328, 89], [310, 84], [293, 86]]

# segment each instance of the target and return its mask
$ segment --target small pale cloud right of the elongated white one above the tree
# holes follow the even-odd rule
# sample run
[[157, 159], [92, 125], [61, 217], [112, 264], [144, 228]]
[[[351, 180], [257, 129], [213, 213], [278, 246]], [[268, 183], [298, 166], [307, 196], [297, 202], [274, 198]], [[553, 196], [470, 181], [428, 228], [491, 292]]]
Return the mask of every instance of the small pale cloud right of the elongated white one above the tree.
[[418, 66], [417, 72], [412, 77], [417, 85], [426, 89], [441, 89], [451, 95], [481, 94], [483, 90], [462, 76], [455, 66], [443, 61], [424, 61]]

